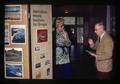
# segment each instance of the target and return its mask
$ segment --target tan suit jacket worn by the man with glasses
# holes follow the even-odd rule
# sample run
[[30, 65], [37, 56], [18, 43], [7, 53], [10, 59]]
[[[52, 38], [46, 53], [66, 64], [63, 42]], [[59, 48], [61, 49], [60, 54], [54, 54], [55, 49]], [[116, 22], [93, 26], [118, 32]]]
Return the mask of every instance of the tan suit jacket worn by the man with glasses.
[[91, 48], [96, 50], [96, 67], [100, 72], [109, 72], [112, 70], [113, 40], [106, 32], [101, 41], [96, 41]]

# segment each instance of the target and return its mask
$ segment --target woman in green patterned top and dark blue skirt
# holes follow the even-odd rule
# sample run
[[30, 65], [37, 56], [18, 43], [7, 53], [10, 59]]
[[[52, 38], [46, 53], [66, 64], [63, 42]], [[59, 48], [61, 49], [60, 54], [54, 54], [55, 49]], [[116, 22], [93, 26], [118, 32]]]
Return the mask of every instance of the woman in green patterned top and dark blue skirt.
[[56, 79], [71, 79], [71, 65], [69, 58], [69, 40], [67, 32], [64, 30], [64, 19], [56, 19]]

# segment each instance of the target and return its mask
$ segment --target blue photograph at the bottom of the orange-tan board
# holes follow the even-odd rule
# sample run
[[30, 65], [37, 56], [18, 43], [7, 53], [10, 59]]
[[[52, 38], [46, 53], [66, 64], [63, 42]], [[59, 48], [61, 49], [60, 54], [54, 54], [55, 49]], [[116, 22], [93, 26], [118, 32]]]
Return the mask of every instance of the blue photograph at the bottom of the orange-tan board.
[[6, 78], [22, 78], [22, 64], [6, 64]]

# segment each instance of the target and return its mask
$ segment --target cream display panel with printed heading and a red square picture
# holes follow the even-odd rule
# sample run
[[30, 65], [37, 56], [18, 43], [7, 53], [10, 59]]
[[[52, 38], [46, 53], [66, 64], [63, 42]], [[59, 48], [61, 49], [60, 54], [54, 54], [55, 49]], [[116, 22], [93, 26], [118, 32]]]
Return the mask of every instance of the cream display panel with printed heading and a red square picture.
[[52, 6], [31, 5], [32, 79], [52, 79]]

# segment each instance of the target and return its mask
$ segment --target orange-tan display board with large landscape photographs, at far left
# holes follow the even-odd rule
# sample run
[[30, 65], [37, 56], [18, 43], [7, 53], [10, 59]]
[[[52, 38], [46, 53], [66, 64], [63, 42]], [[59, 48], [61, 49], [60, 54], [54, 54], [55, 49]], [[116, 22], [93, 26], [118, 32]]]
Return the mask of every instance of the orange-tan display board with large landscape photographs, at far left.
[[5, 5], [5, 78], [29, 79], [28, 6]]

